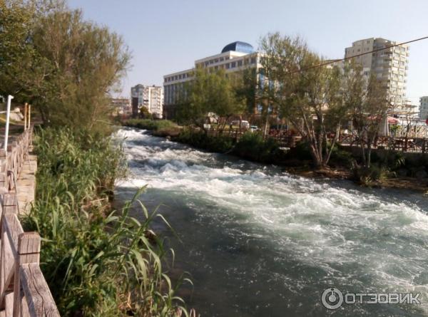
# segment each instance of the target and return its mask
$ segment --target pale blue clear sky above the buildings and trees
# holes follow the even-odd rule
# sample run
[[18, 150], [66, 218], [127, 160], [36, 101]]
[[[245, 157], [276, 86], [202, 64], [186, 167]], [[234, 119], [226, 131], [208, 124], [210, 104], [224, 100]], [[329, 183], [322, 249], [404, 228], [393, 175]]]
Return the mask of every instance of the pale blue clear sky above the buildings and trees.
[[[163, 76], [220, 53], [233, 41], [258, 48], [279, 31], [302, 36], [326, 58], [343, 58], [363, 38], [404, 42], [428, 36], [427, 0], [68, 0], [86, 19], [123, 36], [132, 53], [122, 95], [162, 85]], [[410, 44], [407, 96], [428, 95], [428, 39]]]

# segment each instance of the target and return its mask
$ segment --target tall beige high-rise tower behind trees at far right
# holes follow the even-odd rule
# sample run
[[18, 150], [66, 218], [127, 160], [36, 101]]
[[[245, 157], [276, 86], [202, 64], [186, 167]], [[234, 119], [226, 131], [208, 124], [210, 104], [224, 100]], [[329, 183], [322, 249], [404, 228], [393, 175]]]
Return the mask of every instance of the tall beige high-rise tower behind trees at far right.
[[[406, 104], [406, 77], [409, 63], [409, 47], [407, 45], [395, 46], [397, 42], [384, 38], [366, 38], [355, 41], [351, 47], [345, 48], [345, 58], [354, 59], [362, 64], [366, 76], [374, 73], [384, 82], [387, 95], [394, 108], [402, 108]], [[368, 53], [379, 48], [382, 51]], [[362, 53], [367, 53], [358, 56]]]

